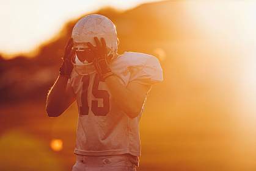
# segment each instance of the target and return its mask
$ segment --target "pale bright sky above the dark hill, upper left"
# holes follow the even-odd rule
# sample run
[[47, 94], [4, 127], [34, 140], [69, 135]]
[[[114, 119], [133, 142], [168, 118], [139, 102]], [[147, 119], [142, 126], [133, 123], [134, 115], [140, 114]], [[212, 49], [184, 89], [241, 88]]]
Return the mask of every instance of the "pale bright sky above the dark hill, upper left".
[[129, 9], [154, 0], [0, 0], [0, 53], [27, 53], [53, 37], [69, 20], [111, 6]]

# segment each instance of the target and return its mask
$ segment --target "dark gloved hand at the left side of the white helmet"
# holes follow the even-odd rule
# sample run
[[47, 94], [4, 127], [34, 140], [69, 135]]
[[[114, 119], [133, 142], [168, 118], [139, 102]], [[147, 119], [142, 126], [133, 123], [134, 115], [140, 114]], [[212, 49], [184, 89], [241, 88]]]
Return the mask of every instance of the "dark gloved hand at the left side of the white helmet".
[[59, 73], [65, 77], [70, 78], [71, 72], [73, 71], [73, 64], [71, 63], [71, 58], [74, 57], [75, 50], [73, 49], [73, 39], [70, 38], [65, 47], [65, 54], [62, 57], [62, 65], [60, 66]]

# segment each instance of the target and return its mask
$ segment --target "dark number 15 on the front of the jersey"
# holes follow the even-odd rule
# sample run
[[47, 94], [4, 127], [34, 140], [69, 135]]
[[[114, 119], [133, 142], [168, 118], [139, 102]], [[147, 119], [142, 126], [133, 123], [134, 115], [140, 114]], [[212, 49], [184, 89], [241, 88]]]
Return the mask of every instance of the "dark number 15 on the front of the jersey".
[[[88, 88], [90, 83], [90, 75], [85, 75], [82, 77], [82, 94], [81, 102], [82, 106], [80, 107], [81, 115], [89, 114], [89, 105], [88, 105]], [[92, 94], [97, 99], [103, 100], [103, 106], [98, 106], [98, 100], [92, 100], [92, 112], [95, 116], [106, 116], [109, 113], [109, 93], [106, 90], [98, 89], [100, 80], [98, 75], [95, 75], [95, 79], [92, 86]]]

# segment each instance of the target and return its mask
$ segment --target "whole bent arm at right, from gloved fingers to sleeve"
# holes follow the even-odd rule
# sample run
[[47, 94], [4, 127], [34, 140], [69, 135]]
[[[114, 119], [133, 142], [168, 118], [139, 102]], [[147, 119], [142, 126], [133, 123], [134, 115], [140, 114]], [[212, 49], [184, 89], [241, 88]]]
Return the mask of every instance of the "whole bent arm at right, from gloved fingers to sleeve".
[[120, 108], [122, 108], [129, 117], [136, 117], [141, 112], [150, 86], [135, 82], [129, 83], [128, 86], [123, 85], [120, 79], [115, 76], [109, 68], [108, 59], [111, 58], [111, 56], [108, 55], [104, 38], [98, 40], [98, 38], [95, 37], [94, 40], [96, 47], [92, 46], [91, 43], [87, 43], [87, 45], [95, 56], [93, 58], [93, 64], [100, 79], [107, 83], [109, 91], [111, 91], [112, 96]]

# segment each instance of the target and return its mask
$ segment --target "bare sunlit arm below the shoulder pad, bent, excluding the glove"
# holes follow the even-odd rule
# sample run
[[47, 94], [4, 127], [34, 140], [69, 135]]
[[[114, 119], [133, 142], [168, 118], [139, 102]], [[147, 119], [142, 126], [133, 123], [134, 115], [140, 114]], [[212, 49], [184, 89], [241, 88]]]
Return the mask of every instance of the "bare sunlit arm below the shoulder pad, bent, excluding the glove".
[[131, 118], [137, 117], [141, 113], [145, 97], [150, 91], [151, 85], [131, 82], [124, 86], [119, 77], [111, 75], [105, 79], [109, 91], [114, 97], [119, 107]]

